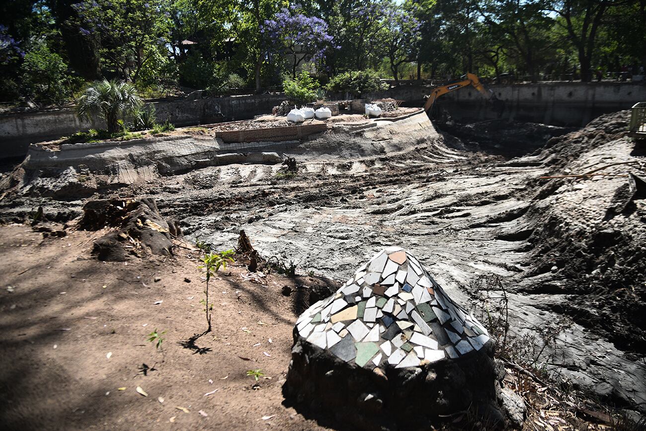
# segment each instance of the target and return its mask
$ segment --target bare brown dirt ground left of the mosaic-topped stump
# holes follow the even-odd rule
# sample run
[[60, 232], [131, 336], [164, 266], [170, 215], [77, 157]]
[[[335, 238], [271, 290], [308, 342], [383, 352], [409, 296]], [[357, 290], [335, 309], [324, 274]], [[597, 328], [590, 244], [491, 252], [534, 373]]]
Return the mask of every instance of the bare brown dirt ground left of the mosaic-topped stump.
[[[97, 262], [87, 256], [99, 234], [43, 240], [0, 227], [4, 430], [324, 429], [282, 406], [281, 392], [302, 306], [281, 292], [317, 280], [268, 276], [262, 286], [227, 268], [210, 289], [213, 332], [184, 348], [205, 329], [194, 258]], [[155, 329], [166, 331], [161, 353], [147, 341]], [[246, 372], [256, 369], [265, 376], [254, 389]]]

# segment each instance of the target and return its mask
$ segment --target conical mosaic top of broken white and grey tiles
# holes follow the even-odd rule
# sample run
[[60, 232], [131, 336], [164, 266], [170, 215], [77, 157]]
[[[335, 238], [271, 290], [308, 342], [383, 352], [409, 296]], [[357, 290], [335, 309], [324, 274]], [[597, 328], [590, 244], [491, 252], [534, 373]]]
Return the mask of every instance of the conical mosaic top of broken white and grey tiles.
[[334, 295], [308, 308], [296, 330], [305, 341], [366, 368], [457, 359], [490, 339], [399, 247], [377, 253]]

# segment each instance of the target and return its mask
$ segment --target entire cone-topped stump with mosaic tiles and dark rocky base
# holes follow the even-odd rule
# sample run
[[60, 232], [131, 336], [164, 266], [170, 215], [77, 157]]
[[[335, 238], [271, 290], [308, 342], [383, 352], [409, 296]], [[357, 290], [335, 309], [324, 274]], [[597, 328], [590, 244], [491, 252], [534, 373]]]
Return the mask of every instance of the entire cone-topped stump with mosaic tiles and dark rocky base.
[[352, 428], [424, 427], [474, 404], [502, 418], [485, 327], [401, 248], [300, 315], [294, 341], [286, 396]]

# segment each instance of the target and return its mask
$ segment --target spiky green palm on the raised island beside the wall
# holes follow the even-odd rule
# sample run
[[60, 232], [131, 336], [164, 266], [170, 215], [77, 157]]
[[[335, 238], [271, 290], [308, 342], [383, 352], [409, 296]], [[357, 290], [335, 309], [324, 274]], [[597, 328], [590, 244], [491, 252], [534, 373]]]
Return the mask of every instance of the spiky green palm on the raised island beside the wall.
[[98, 115], [105, 119], [108, 132], [119, 131], [119, 120], [132, 114], [143, 102], [132, 84], [120, 81], [95, 81], [76, 101], [76, 114], [83, 120]]

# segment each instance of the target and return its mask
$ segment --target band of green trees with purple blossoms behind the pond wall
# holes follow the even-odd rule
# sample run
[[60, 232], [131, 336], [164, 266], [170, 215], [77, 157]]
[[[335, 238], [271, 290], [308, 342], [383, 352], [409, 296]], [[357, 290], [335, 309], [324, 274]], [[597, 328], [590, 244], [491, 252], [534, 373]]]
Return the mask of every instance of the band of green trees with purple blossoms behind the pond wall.
[[12, 0], [0, 101], [67, 103], [91, 81], [145, 97], [381, 78], [579, 79], [646, 66], [646, 0]]

